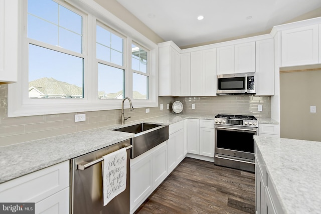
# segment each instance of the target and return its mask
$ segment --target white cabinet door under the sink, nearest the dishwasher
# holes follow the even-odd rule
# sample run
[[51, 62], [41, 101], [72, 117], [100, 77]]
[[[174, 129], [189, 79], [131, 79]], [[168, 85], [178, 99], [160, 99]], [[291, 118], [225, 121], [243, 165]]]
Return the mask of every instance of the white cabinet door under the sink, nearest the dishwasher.
[[130, 210], [149, 194], [153, 187], [152, 179], [152, 155], [130, 167]]

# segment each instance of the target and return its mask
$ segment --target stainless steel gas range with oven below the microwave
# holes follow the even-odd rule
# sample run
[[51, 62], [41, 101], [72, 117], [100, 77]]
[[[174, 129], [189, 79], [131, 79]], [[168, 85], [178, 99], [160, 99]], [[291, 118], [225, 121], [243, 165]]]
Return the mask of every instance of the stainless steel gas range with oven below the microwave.
[[254, 139], [258, 122], [254, 116], [215, 116], [216, 165], [254, 172]]

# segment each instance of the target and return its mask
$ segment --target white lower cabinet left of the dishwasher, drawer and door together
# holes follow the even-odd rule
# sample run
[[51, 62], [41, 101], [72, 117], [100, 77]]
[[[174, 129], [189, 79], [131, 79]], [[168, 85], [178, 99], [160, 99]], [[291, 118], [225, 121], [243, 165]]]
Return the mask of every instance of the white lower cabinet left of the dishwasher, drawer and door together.
[[69, 161], [0, 184], [1, 202], [35, 202], [35, 213], [69, 213]]

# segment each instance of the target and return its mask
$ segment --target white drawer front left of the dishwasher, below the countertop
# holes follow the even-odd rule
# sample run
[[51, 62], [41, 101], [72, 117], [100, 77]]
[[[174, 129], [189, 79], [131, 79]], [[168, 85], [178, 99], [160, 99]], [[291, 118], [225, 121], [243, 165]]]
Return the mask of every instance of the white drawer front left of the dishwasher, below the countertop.
[[39, 202], [69, 186], [69, 160], [0, 184], [2, 202]]

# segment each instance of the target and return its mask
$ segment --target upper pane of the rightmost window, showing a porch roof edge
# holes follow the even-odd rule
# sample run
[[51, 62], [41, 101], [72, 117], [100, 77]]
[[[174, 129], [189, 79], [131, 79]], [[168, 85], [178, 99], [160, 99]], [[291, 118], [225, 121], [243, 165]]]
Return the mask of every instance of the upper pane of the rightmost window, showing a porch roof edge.
[[135, 45], [131, 45], [131, 69], [147, 73], [147, 52]]

